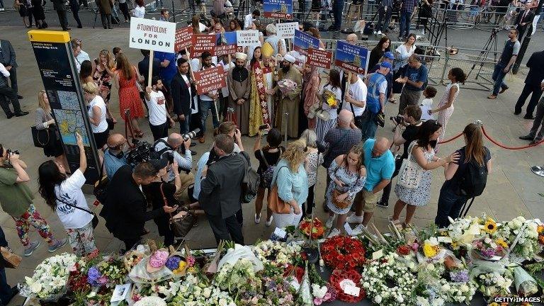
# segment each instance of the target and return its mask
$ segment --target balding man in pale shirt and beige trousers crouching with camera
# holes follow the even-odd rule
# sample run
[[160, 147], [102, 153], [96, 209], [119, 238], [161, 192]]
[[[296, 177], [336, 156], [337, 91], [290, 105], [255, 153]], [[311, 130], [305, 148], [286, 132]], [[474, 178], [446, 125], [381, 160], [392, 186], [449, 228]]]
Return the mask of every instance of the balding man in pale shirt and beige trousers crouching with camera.
[[[182, 148], [181, 154], [179, 152], [180, 147]], [[179, 174], [174, 174], [174, 170], [169, 166], [167, 182], [174, 181], [176, 175], [179, 175], [181, 188], [176, 191], [176, 199], [182, 203], [191, 203], [187, 189], [195, 182], [195, 178], [191, 173], [193, 158], [191, 157], [189, 147], [191, 147], [191, 138], [187, 137], [184, 140], [183, 136], [178, 133], [171, 133], [169, 137], [159, 138], [153, 144], [155, 152], [159, 153], [162, 157], [166, 156], [170, 164], [174, 164], [174, 161], [176, 161], [179, 168], [181, 168]]]

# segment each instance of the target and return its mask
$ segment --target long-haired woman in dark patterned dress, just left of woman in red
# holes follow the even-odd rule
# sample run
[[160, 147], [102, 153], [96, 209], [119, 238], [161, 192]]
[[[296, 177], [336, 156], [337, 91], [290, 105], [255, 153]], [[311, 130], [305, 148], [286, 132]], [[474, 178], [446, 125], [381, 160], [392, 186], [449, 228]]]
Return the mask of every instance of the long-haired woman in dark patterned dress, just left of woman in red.
[[98, 91], [100, 96], [106, 103], [106, 111], [108, 118], [113, 120], [113, 123], [117, 123], [117, 120], [111, 115], [109, 104], [111, 96], [111, 85], [113, 84], [113, 76], [115, 75], [115, 62], [113, 61], [113, 55], [108, 50], [101, 50], [98, 53], [98, 57], [94, 59], [93, 64], [93, 80], [98, 85]]

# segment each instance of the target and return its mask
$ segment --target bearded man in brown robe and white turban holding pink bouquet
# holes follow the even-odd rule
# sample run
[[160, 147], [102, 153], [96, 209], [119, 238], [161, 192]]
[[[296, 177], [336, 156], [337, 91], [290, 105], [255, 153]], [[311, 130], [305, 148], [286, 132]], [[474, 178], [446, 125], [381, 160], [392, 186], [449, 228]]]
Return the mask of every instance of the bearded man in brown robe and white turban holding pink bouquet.
[[288, 113], [287, 135], [292, 138], [299, 137], [298, 109], [300, 104], [300, 92], [302, 91], [302, 74], [300, 74], [298, 69], [293, 66], [295, 61], [295, 57], [292, 55], [285, 55], [282, 62], [283, 67], [281, 67], [278, 72], [279, 81], [290, 79], [297, 84], [295, 89], [286, 94], [281, 94], [278, 86], [273, 89], [274, 93], [280, 92], [280, 103], [278, 106], [278, 113], [276, 114], [276, 128], [281, 130], [282, 134], [285, 134], [285, 123], [283, 120], [285, 119], [285, 113]]

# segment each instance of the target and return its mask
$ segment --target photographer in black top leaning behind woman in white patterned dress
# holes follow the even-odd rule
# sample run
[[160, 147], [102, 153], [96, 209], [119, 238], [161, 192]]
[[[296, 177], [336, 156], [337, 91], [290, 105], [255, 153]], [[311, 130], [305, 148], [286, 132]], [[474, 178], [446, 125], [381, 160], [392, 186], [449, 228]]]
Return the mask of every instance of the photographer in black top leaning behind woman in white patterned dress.
[[[412, 141], [416, 140], [419, 127], [421, 127], [421, 108], [419, 106], [407, 106], [404, 108], [404, 115], [396, 115], [391, 117], [391, 120], [395, 121], [397, 127], [395, 128], [395, 135], [393, 136], [393, 146], [400, 147], [404, 145], [402, 155], [395, 158], [395, 172], [393, 172], [392, 178], [399, 174], [402, 160], [408, 158], [408, 147]], [[392, 179], [391, 178], [391, 179]], [[378, 201], [378, 206], [382, 208], [389, 207], [389, 195], [391, 193], [391, 182], [383, 188], [382, 199]]]

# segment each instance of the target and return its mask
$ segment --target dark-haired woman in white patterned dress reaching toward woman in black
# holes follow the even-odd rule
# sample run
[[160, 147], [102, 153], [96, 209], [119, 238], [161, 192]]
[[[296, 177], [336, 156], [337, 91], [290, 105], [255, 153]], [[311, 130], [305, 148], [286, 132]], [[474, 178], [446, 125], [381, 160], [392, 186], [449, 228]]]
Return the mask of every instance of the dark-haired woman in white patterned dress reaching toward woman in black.
[[[407, 163], [407, 168], [410, 167], [413, 171], [407, 170], [407, 172], [403, 172], [404, 165], [400, 167], [399, 181], [397, 181], [397, 186], [395, 186], [395, 194], [399, 200], [395, 203], [392, 217], [392, 222], [396, 227], [407, 227], [412, 222], [416, 208], [429, 204], [432, 180], [431, 170], [439, 166], [445, 166], [449, 162], [455, 162], [459, 158], [459, 154], [456, 152], [453, 152], [445, 159], [437, 157], [434, 153], [436, 140], [441, 135], [441, 129], [442, 126], [436, 120], [425, 121], [421, 125], [421, 128], [419, 128], [417, 140], [412, 142], [408, 147], [408, 159], [405, 159], [404, 162]], [[407, 181], [419, 180], [419, 183], [414, 183], [411, 186], [399, 183], [404, 173], [408, 173]], [[414, 176], [419, 176], [419, 178]], [[404, 223], [401, 225], [399, 216], [404, 206], [407, 206], [406, 217]]]

